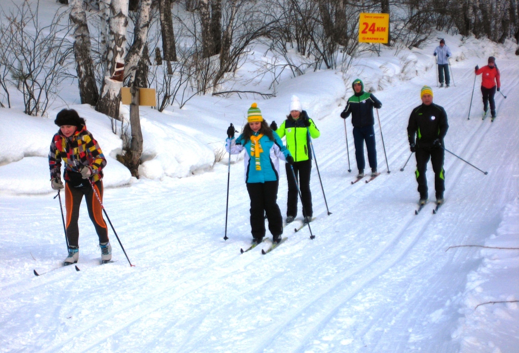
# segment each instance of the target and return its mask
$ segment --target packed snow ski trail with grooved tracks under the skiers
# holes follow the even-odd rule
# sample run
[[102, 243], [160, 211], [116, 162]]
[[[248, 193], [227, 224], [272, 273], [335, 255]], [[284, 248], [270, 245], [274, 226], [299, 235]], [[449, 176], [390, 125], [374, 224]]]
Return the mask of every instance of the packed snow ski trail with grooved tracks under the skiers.
[[[344, 107], [316, 122], [322, 134], [313, 145], [333, 214], [326, 215], [315, 173], [316, 238], [306, 228], [294, 234], [286, 227], [288, 241], [268, 256], [261, 249], [269, 242], [239, 251], [251, 239], [241, 161], [231, 166], [226, 242], [224, 165], [190, 178], [105, 190], [103, 203], [134, 268], [111, 232], [119, 261], [94, 265], [100, 250], [83, 207], [81, 271], [65, 267], [35, 277], [33, 269], [56, 267], [66, 256], [59, 205], [51, 194], [1, 196], [2, 351], [459, 351], [452, 334], [460, 293], [479, 260], [475, 250], [445, 249], [483, 244], [502, 207], [519, 193], [519, 68], [510, 63], [500, 65], [508, 98], [496, 95], [493, 123], [467, 120], [469, 64], [453, 67], [457, 87], [433, 87], [434, 102], [448, 115], [446, 148], [489, 172], [446, 153], [446, 201], [437, 215], [432, 203], [414, 215], [414, 157], [399, 171], [409, 156], [405, 128], [423, 79], [376, 93], [392, 173], [385, 170], [376, 124], [382, 174], [373, 182], [350, 183], [356, 162], [351, 139], [348, 173]], [[480, 96], [474, 94], [473, 105], [475, 115]], [[284, 175], [278, 202], [284, 213]]]

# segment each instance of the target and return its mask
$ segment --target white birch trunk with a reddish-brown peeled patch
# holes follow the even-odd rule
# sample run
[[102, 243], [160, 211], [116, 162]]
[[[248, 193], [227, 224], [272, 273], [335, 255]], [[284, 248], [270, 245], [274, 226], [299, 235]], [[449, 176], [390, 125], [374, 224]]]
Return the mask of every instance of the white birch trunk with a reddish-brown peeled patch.
[[110, 10], [110, 22], [108, 23], [108, 47], [105, 59], [107, 66], [101, 95], [95, 110], [119, 119], [122, 75], [116, 74], [116, 68], [124, 69], [128, 0], [112, 0], [108, 9]]

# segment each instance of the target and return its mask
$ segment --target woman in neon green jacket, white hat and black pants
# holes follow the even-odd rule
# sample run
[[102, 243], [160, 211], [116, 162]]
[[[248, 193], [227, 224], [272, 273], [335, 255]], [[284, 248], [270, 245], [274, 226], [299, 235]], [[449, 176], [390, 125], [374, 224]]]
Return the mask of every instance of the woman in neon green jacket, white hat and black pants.
[[[318, 138], [321, 132], [316, 124], [308, 117], [303, 110], [301, 102], [297, 96], [292, 96], [290, 102], [290, 114], [286, 120], [277, 127], [276, 122], [270, 125], [279, 137], [286, 137], [286, 148], [294, 158], [294, 174], [299, 179], [299, 190], [301, 190], [303, 202], [303, 217], [305, 222], [312, 220], [312, 194], [310, 192], [310, 173], [312, 171], [312, 151], [310, 150], [310, 138]], [[297, 185], [292, 176], [290, 165], [285, 164], [286, 180], [288, 180], [288, 200], [286, 201], [286, 223], [290, 223], [297, 216]]]

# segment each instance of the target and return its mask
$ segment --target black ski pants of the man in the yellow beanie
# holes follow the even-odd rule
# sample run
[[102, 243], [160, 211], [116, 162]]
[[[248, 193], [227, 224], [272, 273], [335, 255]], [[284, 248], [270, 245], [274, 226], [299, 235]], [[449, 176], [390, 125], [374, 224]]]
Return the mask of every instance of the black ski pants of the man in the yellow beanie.
[[434, 171], [434, 188], [436, 190], [436, 199], [443, 197], [445, 191], [445, 171], [443, 170], [443, 158], [445, 150], [439, 148], [417, 148], [415, 152], [416, 157], [416, 181], [418, 182], [418, 192], [420, 199], [428, 198], [427, 188], [427, 163], [429, 159], [432, 163], [432, 170]]

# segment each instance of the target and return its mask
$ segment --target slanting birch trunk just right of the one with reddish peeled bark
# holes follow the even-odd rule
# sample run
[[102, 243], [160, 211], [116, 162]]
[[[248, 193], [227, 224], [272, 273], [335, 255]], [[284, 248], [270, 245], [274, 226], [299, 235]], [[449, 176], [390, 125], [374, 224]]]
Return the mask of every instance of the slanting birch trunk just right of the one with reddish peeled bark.
[[[130, 77], [128, 86], [132, 87], [135, 81], [135, 73], [137, 72], [139, 62], [142, 58], [142, 52], [146, 46], [148, 39], [149, 23], [151, 22], [150, 9], [152, 0], [139, 0], [138, 16], [135, 22], [135, 30], [133, 35], [133, 44], [128, 50], [125, 63], [125, 78]], [[140, 87], [140, 86], [138, 86]]]

